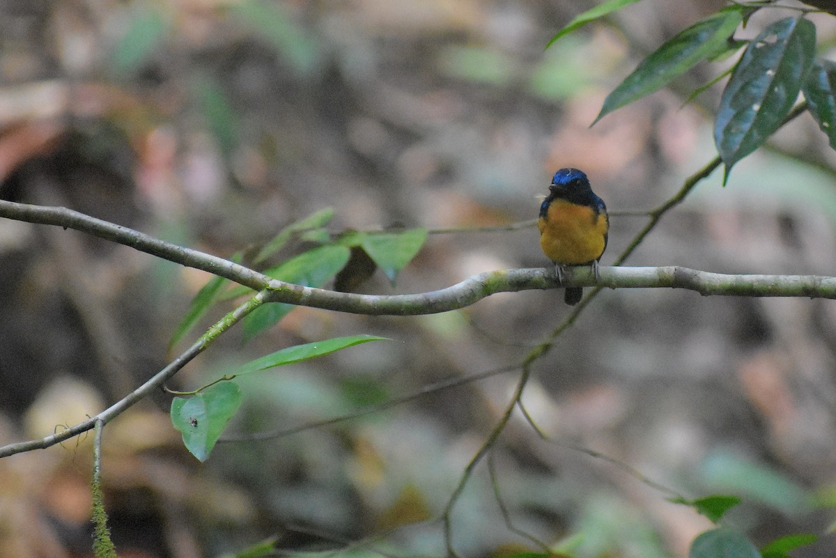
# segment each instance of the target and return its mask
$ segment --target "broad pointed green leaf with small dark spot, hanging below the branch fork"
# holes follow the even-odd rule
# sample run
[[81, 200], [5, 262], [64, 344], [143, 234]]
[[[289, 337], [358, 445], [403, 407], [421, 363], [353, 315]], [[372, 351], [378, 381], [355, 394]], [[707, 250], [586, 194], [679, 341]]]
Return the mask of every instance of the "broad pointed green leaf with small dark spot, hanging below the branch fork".
[[241, 401], [237, 383], [216, 383], [190, 398], [174, 398], [171, 424], [183, 435], [186, 449], [197, 459], [206, 461]]

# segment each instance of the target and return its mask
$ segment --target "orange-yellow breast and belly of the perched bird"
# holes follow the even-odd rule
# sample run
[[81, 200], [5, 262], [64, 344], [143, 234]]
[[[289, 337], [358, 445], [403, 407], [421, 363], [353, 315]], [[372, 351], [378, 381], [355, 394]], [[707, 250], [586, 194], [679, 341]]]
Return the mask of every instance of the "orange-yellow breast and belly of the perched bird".
[[538, 221], [540, 246], [558, 264], [580, 265], [604, 253], [609, 222], [604, 213], [588, 205], [553, 200]]

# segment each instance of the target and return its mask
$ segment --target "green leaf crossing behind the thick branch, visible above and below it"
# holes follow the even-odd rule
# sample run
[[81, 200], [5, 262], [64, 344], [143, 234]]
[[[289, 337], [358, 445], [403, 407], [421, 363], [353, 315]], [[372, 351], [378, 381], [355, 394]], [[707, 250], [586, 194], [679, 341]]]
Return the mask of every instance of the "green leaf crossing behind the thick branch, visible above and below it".
[[[319, 246], [272, 267], [264, 273], [273, 279], [303, 285], [322, 287], [349, 261], [350, 251], [345, 246]], [[244, 288], [244, 292], [248, 289]], [[237, 292], [233, 289], [232, 292]], [[242, 320], [244, 340], [248, 341], [285, 317], [293, 310], [292, 304], [269, 303], [257, 307]]]

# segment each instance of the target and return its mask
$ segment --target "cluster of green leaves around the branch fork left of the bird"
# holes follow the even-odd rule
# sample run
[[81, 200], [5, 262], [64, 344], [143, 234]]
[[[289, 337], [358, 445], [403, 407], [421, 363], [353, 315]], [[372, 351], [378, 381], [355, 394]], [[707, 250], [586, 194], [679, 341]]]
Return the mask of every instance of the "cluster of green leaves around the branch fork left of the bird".
[[[426, 229], [412, 229], [396, 232], [359, 232], [349, 231], [332, 235], [324, 227], [334, 216], [334, 211], [324, 209], [285, 226], [276, 236], [268, 241], [252, 258], [252, 266], [263, 265], [282, 251], [288, 242], [299, 239], [313, 244], [302, 253], [269, 266], [263, 273], [283, 282], [303, 285], [304, 287], [323, 287], [326, 282], [339, 274], [353, 275], [352, 261], [361, 253], [365, 261], [364, 273], [370, 274], [380, 267], [385, 275], [395, 282], [398, 271], [408, 264], [421, 250], [426, 240]], [[232, 256], [233, 261], [242, 261], [242, 253]], [[219, 276], [212, 277], [196, 294], [182, 322], [176, 327], [171, 345], [180, 341], [191, 331], [218, 303], [239, 297], [252, 296], [248, 287], [233, 285]], [[253, 305], [242, 320], [245, 340], [252, 339], [272, 327], [293, 310], [293, 305], [267, 303]], [[243, 364], [232, 373], [217, 379], [192, 393], [181, 393], [189, 397], [176, 397], [171, 402], [171, 424], [183, 437], [186, 449], [197, 459], [205, 461], [220, 439], [229, 420], [237, 413], [242, 404], [242, 393], [233, 378], [245, 373], [260, 372], [291, 363], [298, 363], [309, 358], [316, 358], [334, 353], [359, 343], [380, 341], [385, 337], [354, 335], [336, 337], [320, 342], [310, 342], [293, 347], [285, 347], [275, 353]]]

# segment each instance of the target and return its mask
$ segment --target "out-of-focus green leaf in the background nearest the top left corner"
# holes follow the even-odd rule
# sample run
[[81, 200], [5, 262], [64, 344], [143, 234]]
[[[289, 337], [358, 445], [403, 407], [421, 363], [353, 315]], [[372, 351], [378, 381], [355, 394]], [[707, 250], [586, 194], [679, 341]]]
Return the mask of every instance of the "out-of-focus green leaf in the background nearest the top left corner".
[[127, 31], [110, 53], [118, 74], [132, 72], [144, 63], [160, 47], [170, 28], [166, 18], [150, 6], [132, 12]]

